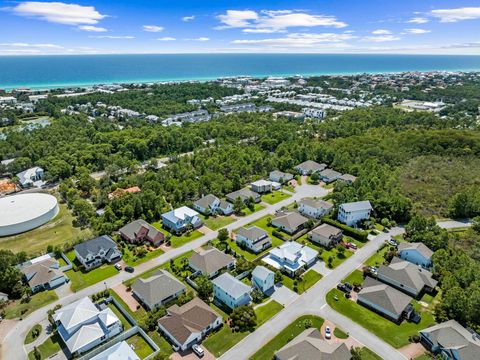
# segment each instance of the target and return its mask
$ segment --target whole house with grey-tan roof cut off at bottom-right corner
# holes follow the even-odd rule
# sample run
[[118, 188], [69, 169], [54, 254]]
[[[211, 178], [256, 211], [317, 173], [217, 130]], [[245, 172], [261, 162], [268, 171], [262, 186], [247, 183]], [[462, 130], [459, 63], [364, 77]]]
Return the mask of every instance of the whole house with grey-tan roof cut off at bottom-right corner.
[[420, 331], [421, 343], [433, 354], [445, 360], [478, 360], [480, 335], [455, 320]]

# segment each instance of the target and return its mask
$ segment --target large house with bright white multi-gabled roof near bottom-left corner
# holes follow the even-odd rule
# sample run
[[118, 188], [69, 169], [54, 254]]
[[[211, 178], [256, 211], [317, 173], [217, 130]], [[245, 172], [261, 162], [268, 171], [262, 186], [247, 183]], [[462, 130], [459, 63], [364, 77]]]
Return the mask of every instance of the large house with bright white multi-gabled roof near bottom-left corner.
[[53, 319], [72, 356], [85, 353], [123, 331], [122, 322], [109, 307], [100, 309], [88, 297], [61, 307]]

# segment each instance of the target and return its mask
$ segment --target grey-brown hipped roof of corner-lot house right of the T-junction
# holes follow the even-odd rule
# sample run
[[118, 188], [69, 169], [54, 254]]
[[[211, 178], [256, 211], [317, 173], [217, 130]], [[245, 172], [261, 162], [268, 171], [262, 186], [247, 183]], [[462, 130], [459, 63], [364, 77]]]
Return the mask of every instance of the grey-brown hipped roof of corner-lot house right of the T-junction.
[[396, 315], [401, 315], [410, 304], [412, 298], [401, 291], [367, 277], [363, 289], [358, 293], [358, 298], [367, 300]]

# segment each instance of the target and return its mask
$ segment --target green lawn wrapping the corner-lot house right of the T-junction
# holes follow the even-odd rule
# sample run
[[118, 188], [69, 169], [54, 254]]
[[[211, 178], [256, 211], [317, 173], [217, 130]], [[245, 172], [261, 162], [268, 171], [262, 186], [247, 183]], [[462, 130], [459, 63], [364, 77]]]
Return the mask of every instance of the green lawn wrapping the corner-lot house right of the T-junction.
[[[335, 296], [338, 300], [335, 300]], [[337, 289], [333, 289], [327, 294], [327, 302], [334, 310], [349, 317], [395, 348], [409, 344], [409, 336], [415, 335], [419, 330], [435, 324], [432, 311], [430, 309], [421, 309], [420, 305], [416, 304], [415, 301], [413, 301], [414, 307], [421, 312], [422, 321], [419, 324], [404, 321], [400, 325], [346, 299], [343, 293]]]

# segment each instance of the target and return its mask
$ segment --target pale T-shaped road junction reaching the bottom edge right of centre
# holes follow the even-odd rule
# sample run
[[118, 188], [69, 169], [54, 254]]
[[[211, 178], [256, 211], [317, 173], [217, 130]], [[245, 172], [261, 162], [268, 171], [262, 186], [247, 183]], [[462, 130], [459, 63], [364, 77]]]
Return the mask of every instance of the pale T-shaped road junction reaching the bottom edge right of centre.
[[405, 357], [395, 348], [379, 339], [357, 323], [337, 313], [328, 306], [325, 295], [343, 280], [353, 270], [373, 255], [382, 243], [390, 236], [403, 232], [401, 228], [394, 228], [388, 234], [382, 233], [370, 240], [359, 249], [354, 256], [348, 258], [334, 271], [323, 277], [317, 284], [307, 290], [302, 296], [290, 303], [272, 319], [263, 324], [254, 333], [244, 338], [220, 358], [221, 360], [248, 359], [264, 344], [275, 337], [279, 331], [302, 315], [313, 314], [335, 323], [347, 331], [358, 342], [375, 351], [383, 359], [405, 360]]

